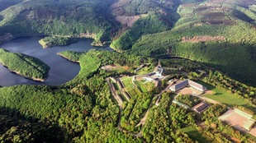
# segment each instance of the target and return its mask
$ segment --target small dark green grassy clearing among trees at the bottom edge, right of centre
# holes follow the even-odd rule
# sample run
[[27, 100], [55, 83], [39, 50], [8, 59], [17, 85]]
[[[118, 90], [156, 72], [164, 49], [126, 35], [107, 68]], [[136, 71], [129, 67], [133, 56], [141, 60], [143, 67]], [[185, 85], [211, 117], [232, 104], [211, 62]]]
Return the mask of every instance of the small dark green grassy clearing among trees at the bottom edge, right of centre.
[[184, 127], [181, 129], [187, 135], [192, 138], [194, 141], [198, 141], [199, 143], [205, 143], [205, 142], [213, 142], [211, 141], [207, 136], [202, 135], [199, 131], [197, 131], [194, 127]]

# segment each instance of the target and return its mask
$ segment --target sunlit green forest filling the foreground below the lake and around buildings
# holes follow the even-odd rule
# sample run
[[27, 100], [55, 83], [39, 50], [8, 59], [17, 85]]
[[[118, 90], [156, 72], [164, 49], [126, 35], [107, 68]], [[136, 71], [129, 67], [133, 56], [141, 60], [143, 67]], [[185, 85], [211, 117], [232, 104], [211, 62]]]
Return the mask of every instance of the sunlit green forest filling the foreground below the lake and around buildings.
[[[2, 107], [1, 119], [2, 122], [10, 122], [2, 130], [2, 135], [0, 136], [2, 141], [193, 142], [194, 140], [187, 136], [183, 130], [180, 130], [187, 126], [196, 127], [198, 131], [201, 131], [201, 134], [208, 136], [209, 140], [215, 139], [215, 136], [211, 133], [212, 131], [219, 132], [217, 135], [220, 142], [229, 141], [226, 136], [234, 135], [232, 133], [234, 132], [233, 128], [225, 126], [217, 120], [212, 120], [212, 117], [220, 116], [221, 113], [224, 113], [226, 111], [225, 107], [217, 106], [215, 108], [215, 106], [212, 106], [212, 108], [208, 109], [209, 111], [207, 110], [208, 113], [204, 113], [202, 117], [197, 117], [195, 113], [172, 104], [173, 93], [164, 93], [159, 106], [144, 104], [143, 100], [150, 99], [152, 93], [138, 95], [135, 98], [136, 100], [139, 100], [140, 96], [143, 99], [136, 104], [137, 109], [133, 109], [130, 119], [135, 119], [137, 113], [143, 113], [143, 111], [140, 111], [140, 107], [148, 108], [152, 106], [149, 110], [149, 120], [147, 120], [145, 127], [142, 129], [143, 138], [124, 133], [116, 128], [119, 108], [116, 100], [112, 98], [109, 86], [105, 81], [106, 77], [115, 76], [116, 71], [105, 71], [100, 67], [111, 63], [134, 66], [134, 62], [140, 65], [143, 62], [154, 61], [104, 50], [90, 50], [88, 53], [83, 54], [68, 52], [64, 53], [64, 55], [67, 58], [79, 59], [81, 71], [72, 81], [59, 86], [17, 85], [0, 88], [0, 98], [2, 99], [0, 102]], [[189, 62], [186, 64], [192, 65]], [[216, 74], [211, 73], [210, 76], [214, 75]], [[211, 79], [217, 80], [215, 77]], [[220, 82], [222, 81], [214, 81], [212, 83], [220, 85]], [[234, 87], [230, 86], [230, 88], [233, 89]], [[239, 89], [239, 87], [235, 87], [235, 89]], [[247, 91], [241, 90], [241, 92]], [[255, 92], [255, 89], [251, 88], [250, 92]], [[254, 99], [254, 95], [251, 95], [251, 97]], [[186, 103], [187, 98], [188, 96], [185, 95], [179, 99]], [[244, 98], [251, 99], [249, 97]], [[194, 102], [198, 102], [197, 99], [194, 99]], [[132, 101], [129, 104], [132, 105]], [[130, 106], [129, 104], [126, 108]], [[126, 112], [124, 111], [124, 113]], [[21, 118], [21, 120], [17, 120], [17, 118]], [[126, 115], [123, 115], [122, 118], [128, 122], [136, 121], [126, 120]], [[226, 128], [225, 131], [228, 132], [223, 134], [223, 128], [212, 128], [211, 124], [206, 124], [209, 127], [207, 127], [207, 130], [202, 130], [195, 123], [198, 120], [197, 118], [201, 118], [200, 120], [206, 122], [214, 122], [217, 127], [224, 126]], [[136, 128], [132, 129], [131, 125], [127, 125], [123, 124], [121, 126], [128, 127], [126, 128], [128, 131], [137, 131]], [[30, 134], [31, 131], [33, 132], [32, 134]], [[59, 136], [52, 136], [52, 131], [58, 131]], [[37, 135], [45, 136], [44, 140], [38, 138]], [[235, 136], [241, 141], [246, 139], [243, 134], [238, 134], [236, 131]]]

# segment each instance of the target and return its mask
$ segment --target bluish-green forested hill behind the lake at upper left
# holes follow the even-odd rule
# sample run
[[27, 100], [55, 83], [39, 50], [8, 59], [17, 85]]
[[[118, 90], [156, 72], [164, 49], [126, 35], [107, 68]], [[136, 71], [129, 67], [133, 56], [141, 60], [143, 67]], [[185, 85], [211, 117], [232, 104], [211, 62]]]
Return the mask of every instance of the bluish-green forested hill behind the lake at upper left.
[[[16, 1], [13, 1], [14, 3]], [[2, 7], [0, 33], [91, 37], [107, 44], [117, 26], [108, 11], [113, 0], [27, 0]], [[6, 3], [0, 1], [0, 4]]]

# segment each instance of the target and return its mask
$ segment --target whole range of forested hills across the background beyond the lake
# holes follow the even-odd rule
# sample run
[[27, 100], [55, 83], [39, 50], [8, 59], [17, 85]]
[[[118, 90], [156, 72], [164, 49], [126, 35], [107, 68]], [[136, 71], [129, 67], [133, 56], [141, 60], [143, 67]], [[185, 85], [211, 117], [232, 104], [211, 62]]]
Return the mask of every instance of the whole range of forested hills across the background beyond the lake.
[[254, 0], [0, 0], [0, 43], [22, 35], [95, 39], [121, 53], [206, 63], [256, 85]]

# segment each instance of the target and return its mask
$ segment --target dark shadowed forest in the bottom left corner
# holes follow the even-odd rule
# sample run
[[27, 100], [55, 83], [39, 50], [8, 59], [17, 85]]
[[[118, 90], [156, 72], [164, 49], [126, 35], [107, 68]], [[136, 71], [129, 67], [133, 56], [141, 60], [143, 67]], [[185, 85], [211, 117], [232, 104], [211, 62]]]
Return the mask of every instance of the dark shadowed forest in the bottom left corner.
[[2, 141], [64, 142], [64, 128], [21, 114], [13, 108], [0, 108]]

